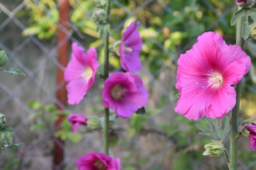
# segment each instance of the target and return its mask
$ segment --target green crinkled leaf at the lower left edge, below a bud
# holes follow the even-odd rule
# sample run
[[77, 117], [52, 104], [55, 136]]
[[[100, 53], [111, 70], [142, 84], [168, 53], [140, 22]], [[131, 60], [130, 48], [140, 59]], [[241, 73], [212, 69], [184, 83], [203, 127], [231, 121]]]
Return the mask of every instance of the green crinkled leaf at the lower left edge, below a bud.
[[12, 127], [6, 126], [0, 130], [0, 146], [5, 144], [12, 145], [12, 136], [15, 135], [15, 132]]

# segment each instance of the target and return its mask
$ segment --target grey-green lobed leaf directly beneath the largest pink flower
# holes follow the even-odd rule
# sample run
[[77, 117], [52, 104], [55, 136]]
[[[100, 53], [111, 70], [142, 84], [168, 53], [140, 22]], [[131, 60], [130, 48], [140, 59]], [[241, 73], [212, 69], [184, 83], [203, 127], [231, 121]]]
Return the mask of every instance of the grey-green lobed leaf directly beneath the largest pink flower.
[[218, 125], [217, 119], [210, 119], [206, 117], [206, 120], [211, 129], [208, 129], [204, 125], [197, 125], [198, 129], [202, 130], [199, 134], [212, 138], [216, 141], [224, 141], [231, 128], [228, 117], [224, 116], [221, 119], [221, 127]]

